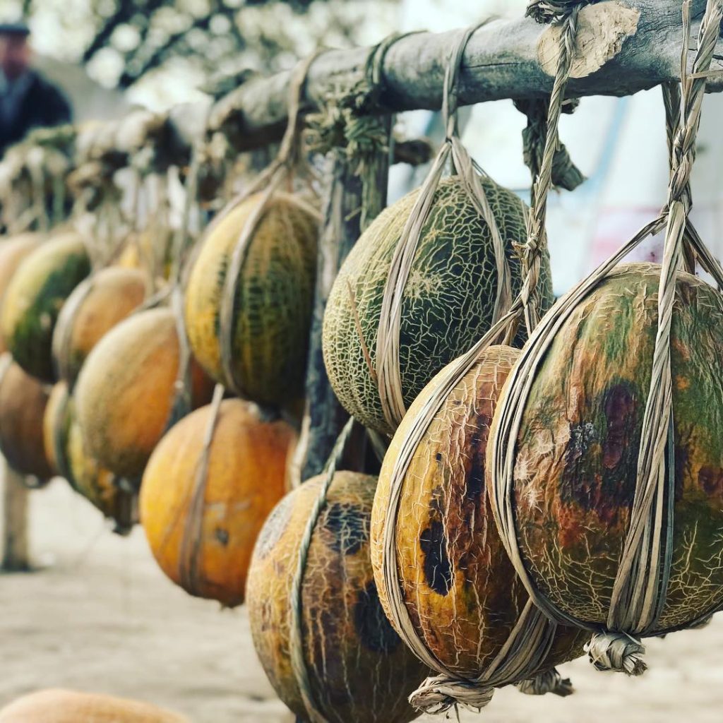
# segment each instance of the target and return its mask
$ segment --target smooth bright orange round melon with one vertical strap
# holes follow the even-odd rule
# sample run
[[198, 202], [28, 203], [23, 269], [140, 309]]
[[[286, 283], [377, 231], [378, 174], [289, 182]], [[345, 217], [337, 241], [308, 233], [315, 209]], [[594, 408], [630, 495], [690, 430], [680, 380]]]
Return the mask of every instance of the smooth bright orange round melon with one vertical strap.
[[140, 515], [166, 575], [192, 595], [228, 607], [244, 600], [256, 536], [286, 491], [294, 429], [254, 403], [221, 403], [199, 476], [213, 406], [181, 419], [143, 474]]

